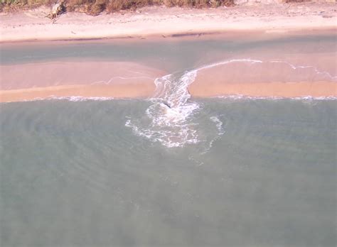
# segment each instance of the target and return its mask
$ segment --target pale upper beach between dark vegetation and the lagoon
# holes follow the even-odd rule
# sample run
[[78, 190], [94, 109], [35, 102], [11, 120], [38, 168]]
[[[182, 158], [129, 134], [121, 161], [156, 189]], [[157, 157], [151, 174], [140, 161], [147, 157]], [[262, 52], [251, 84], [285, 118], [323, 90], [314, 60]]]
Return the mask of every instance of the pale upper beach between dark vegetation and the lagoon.
[[65, 13], [46, 18], [46, 7], [0, 15], [0, 43], [38, 40], [124, 40], [183, 38], [221, 33], [261, 32], [282, 35], [336, 31], [337, 6], [329, 3], [240, 5], [218, 9], [144, 7], [136, 12]]

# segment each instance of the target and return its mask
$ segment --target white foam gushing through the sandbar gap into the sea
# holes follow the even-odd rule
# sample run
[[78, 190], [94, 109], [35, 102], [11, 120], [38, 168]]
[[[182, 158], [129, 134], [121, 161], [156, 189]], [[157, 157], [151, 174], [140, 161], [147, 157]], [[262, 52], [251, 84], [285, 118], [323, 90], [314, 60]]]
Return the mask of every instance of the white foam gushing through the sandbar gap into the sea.
[[[137, 124], [127, 120], [125, 126], [132, 128], [138, 136], [159, 141], [166, 147], [184, 146], [187, 143], [198, 143], [198, 131], [192, 121], [193, 114], [199, 109], [196, 102], [187, 102], [191, 95], [188, 85], [196, 78], [195, 71], [184, 72], [181, 77], [165, 75], [157, 78], [153, 104], [146, 109], [149, 123]], [[141, 127], [144, 126], [144, 127]]]

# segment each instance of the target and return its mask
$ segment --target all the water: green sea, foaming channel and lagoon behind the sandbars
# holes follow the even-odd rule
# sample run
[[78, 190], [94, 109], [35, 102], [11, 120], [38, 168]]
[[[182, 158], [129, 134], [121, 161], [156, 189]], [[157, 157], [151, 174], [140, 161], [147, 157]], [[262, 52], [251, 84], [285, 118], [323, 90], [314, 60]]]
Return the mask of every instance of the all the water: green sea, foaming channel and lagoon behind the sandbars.
[[[336, 53], [335, 41], [2, 47], [2, 64], [124, 57], [170, 74], [151, 99], [0, 104], [1, 246], [336, 246], [336, 99], [187, 90], [198, 70], [232, 62], [335, 80], [336, 69], [277, 60], [285, 47]], [[269, 60], [252, 57], [262, 47]]]

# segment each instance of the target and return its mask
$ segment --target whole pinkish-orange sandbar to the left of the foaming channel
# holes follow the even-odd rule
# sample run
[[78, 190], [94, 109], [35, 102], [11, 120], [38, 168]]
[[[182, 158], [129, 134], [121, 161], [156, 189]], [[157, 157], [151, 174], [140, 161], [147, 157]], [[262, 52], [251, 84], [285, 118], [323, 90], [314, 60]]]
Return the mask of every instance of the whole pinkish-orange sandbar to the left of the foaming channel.
[[149, 97], [164, 71], [133, 62], [1, 65], [0, 101], [48, 97]]

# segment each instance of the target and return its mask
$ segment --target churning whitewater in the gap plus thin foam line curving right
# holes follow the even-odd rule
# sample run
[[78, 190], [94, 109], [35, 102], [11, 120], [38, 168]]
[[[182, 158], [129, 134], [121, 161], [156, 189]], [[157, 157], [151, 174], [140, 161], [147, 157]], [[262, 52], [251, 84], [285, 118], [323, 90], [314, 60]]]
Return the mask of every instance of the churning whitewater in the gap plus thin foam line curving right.
[[[203, 136], [202, 130], [198, 129], [198, 113], [202, 105], [191, 100], [188, 86], [194, 82], [198, 71], [234, 62], [250, 65], [264, 63], [262, 60], [255, 59], [232, 59], [159, 77], [154, 80], [156, 92], [150, 99], [153, 104], [146, 109], [146, 119], [128, 119], [125, 126], [132, 128], [137, 136], [144, 136], [153, 142], [159, 141], [169, 148], [200, 142], [208, 143], [209, 147], [212, 146], [213, 141], [225, 133], [223, 122], [218, 116], [211, 116], [210, 128], [215, 128], [217, 131], [215, 136]], [[299, 70], [299, 73], [303, 72], [300, 70], [311, 70], [319, 79], [337, 79], [336, 75], [320, 71], [314, 66], [296, 66], [281, 60], [265, 62], [282, 63], [292, 70]]]

